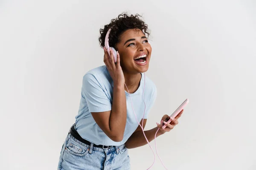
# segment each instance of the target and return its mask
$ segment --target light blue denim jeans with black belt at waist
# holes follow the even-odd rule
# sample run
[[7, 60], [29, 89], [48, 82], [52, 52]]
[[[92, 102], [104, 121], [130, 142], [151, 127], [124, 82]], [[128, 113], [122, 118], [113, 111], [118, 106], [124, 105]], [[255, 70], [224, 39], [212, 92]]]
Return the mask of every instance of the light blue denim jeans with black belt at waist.
[[70, 133], [62, 146], [58, 170], [130, 170], [125, 144], [103, 149], [75, 139]]

